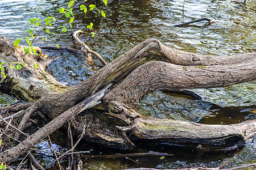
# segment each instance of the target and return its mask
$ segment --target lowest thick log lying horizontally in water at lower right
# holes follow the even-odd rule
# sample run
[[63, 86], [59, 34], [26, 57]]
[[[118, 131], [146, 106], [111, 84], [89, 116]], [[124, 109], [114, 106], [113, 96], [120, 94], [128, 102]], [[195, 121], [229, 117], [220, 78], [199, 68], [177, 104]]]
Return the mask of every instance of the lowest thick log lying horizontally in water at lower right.
[[256, 135], [255, 127], [255, 120], [232, 125], [205, 125], [177, 120], [156, 121], [154, 118], [140, 117], [135, 119], [130, 131], [138, 139], [214, 150], [233, 150], [253, 139]]

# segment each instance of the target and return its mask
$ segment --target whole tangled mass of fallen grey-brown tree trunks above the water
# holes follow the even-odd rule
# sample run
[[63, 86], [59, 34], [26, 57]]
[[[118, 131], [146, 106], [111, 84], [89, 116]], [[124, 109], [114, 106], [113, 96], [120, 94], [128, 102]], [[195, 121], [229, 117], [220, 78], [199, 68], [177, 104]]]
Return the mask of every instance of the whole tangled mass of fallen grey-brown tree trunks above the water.
[[[251, 141], [256, 135], [256, 120], [232, 125], [204, 125], [143, 117], [137, 112], [139, 101], [155, 90], [223, 87], [255, 80], [256, 53], [210, 56], [183, 52], [156, 39], [148, 39], [75, 87], [62, 86], [44, 70], [43, 54], [39, 55], [41, 57], [26, 55], [22, 46], [13, 46], [13, 41], [5, 37], [0, 39], [0, 54], [0, 62], [6, 63], [3, 66], [7, 75], [2, 87], [34, 101], [10, 107], [9, 114], [24, 110], [19, 114], [24, 116], [20, 118], [18, 128], [24, 130], [27, 119], [34, 112], [43, 113], [52, 120], [19, 145], [1, 152], [1, 161], [6, 163], [18, 158], [71, 118], [76, 134], [81, 134], [87, 126], [86, 141], [123, 149], [134, 147], [134, 143], [143, 140], [211, 150], [232, 149]], [[20, 70], [11, 69], [7, 65], [13, 61], [25, 65]], [[109, 88], [103, 99], [102, 96], [97, 99], [97, 104], [101, 102], [97, 109], [80, 105], [106, 86]], [[60, 118], [63, 115], [65, 120]], [[3, 113], [2, 116], [9, 115]], [[22, 135], [19, 131], [15, 133], [16, 138]]]

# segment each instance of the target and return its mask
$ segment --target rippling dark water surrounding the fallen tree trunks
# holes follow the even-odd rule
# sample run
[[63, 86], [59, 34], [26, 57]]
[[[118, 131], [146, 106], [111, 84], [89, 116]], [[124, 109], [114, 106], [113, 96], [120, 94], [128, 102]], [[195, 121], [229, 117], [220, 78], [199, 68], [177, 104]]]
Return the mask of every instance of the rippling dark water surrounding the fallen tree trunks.
[[[54, 11], [69, 1], [31, 1], [31, 0], [0, 0], [0, 35], [15, 40], [26, 36], [23, 31], [31, 28], [28, 17], [44, 18], [55, 15]], [[72, 46], [69, 33], [76, 29], [88, 31], [86, 25], [94, 23], [97, 35], [93, 38], [90, 33], [80, 38], [90, 48], [104, 57], [106, 62], [112, 61], [139, 42], [154, 37], [164, 44], [187, 52], [202, 54], [217, 54], [229, 56], [232, 54], [256, 51], [256, 2], [247, 5], [238, 1], [109, 1], [108, 6], [98, 7], [105, 11], [106, 18], [97, 12], [84, 15], [76, 13], [73, 28], [67, 33], [61, 32], [57, 26], [65, 25], [61, 19], [53, 24], [50, 31], [55, 36], [43, 33], [35, 41], [35, 45], [65, 45]], [[59, 14], [57, 14], [58, 16]], [[183, 27], [172, 25], [188, 22], [199, 18], [212, 18], [218, 22], [208, 27]], [[201, 26], [205, 22], [196, 23]], [[44, 38], [47, 37], [47, 40]], [[43, 39], [43, 43], [42, 43]], [[94, 71], [86, 59], [79, 54], [67, 52], [49, 52], [56, 58], [49, 65], [52, 74], [69, 86], [75, 86], [88, 78]], [[101, 63], [94, 59], [99, 67]], [[98, 68], [99, 68], [98, 67]], [[141, 101], [139, 113], [156, 118], [173, 118], [176, 120], [194, 121], [205, 124], [232, 124], [255, 118], [256, 82], [248, 82], [233, 86], [213, 89], [193, 90], [210, 103], [189, 99], [184, 96], [174, 96], [162, 92], [154, 92]], [[0, 95], [1, 103], [15, 102], [15, 98]], [[60, 134], [60, 132], [56, 133]], [[52, 135], [53, 141], [61, 148], [67, 147], [65, 134]], [[44, 147], [41, 143], [40, 146]], [[184, 147], [150, 146], [141, 143], [140, 147], [130, 152], [167, 152], [175, 156], [144, 156], [138, 158], [96, 159], [84, 160], [84, 169], [125, 169], [133, 167], [174, 168], [190, 165], [229, 168], [256, 162], [256, 141], [248, 143], [240, 150], [232, 152], [210, 153]], [[101, 148], [86, 143], [77, 150], [90, 150], [92, 155], [115, 154], [123, 151]], [[131, 160], [132, 159], [132, 160]], [[46, 167], [54, 160], [51, 157], [41, 158]], [[67, 161], [64, 160], [65, 166]], [[55, 167], [56, 168], [56, 167]], [[57, 168], [56, 168], [57, 169]], [[248, 169], [254, 169], [253, 167]]]

